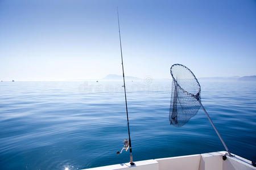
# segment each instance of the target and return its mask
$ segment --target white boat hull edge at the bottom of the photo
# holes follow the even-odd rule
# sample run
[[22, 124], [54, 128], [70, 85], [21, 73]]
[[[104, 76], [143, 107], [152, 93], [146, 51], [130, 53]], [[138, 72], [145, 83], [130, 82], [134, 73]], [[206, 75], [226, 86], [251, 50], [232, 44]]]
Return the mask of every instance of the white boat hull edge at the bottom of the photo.
[[108, 165], [104, 167], [90, 168], [90, 170], [253, 170], [256, 167], [251, 162], [240, 156], [226, 156], [226, 160], [222, 159], [225, 151], [211, 152], [207, 154], [177, 156], [171, 158], [150, 159], [130, 163]]

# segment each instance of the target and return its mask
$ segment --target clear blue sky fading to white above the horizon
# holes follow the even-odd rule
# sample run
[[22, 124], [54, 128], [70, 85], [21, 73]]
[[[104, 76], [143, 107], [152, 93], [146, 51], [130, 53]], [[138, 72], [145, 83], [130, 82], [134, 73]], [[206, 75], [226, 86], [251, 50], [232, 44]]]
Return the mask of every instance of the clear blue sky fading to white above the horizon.
[[0, 80], [256, 75], [256, 1], [3, 1]]

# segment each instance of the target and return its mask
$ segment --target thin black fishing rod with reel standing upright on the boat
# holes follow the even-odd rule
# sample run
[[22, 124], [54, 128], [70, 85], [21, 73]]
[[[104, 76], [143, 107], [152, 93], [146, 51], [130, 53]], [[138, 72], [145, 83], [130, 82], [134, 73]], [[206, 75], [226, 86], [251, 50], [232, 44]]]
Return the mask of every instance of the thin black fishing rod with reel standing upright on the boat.
[[[119, 30], [119, 43], [120, 43], [120, 50], [121, 50], [121, 59], [122, 59], [122, 70], [123, 70], [123, 53], [122, 53], [122, 43], [121, 43], [121, 33], [120, 33], [120, 24], [119, 24], [119, 14], [118, 14], [118, 7], [117, 7], [117, 19], [118, 19], [118, 30]], [[123, 88], [125, 88], [125, 71], [123, 71]], [[124, 146], [121, 152], [117, 152], [117, 155], [121, 154], [123, 149], [126, 151], [130, 147], [130, 164], [134, 165], [133, 162], [133, 154], [131, 152], [131, 137], [130, 137], [130, 127], [129, 127], [129, 118], [128, 118], [128, 109], [127, 109], [127, 99], [126, 99], [126, 89], [125, 89], [125, 106], [126, 106], [126, 117], [127, 117], [127, 126], [128, 126], [128, 134], [129, 134], [129, 141], [125, 139]]]

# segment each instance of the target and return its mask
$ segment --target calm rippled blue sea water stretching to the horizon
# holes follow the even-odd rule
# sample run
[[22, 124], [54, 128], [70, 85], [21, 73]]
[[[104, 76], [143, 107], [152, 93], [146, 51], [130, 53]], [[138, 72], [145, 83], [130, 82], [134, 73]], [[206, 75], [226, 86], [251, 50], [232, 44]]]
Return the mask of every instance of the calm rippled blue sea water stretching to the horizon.
[[[256, 160], [256, 83], [200, 82], [229, 150]], [[122, 82], [0, 82], [0, 169], [81, 169], [129, 162]], [[170, 126], [171, 82], [127, 82], [134, 160], [225, 150], [202, 109]]]

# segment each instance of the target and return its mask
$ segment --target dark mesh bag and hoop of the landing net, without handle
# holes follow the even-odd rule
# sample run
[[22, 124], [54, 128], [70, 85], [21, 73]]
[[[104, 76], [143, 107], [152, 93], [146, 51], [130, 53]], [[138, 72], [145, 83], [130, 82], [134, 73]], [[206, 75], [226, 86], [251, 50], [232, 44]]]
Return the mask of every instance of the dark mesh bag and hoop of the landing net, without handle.
[[175, 64], [171, 67], [172, 92], [169, 120], [170, 124], [185, 125], [200, 109], [201, 87], [195, 75], [187, 67]]

